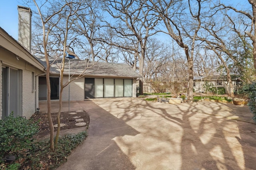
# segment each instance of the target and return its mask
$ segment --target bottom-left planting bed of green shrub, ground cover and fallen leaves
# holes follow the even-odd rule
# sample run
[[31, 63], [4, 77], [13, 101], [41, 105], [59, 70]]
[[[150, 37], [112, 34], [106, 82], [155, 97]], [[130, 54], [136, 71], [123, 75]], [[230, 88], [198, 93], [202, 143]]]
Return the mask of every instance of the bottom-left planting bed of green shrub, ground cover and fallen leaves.
[[[0, 120], [1, 170], [55, 169], [66, 162], [71, 151], [87, 137], [86, 131], [60, 137], [58, 147], [52, 152], [49, 140], [32, 140], [32, 136], [37, 132], [36, 123], [31, 123], [30, 119], [14, 118], [10, 115]], [[6, 155], [14, 155], [16, 160], [5, 162]]]

